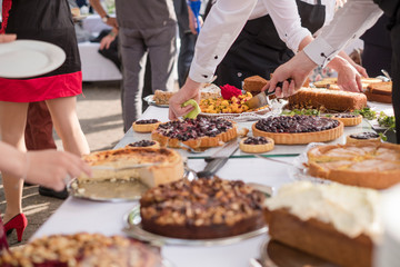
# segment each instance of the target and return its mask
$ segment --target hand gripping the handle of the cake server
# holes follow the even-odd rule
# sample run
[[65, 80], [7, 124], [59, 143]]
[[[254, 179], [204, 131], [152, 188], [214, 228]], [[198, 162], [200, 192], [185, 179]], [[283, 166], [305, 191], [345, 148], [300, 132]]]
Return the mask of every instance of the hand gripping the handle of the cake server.
[[[291, 60], [276, 69], [270, 82], [262, 88], [262, 91], [267, 89], [269, 92], [276, 90], [277, 98], [290, 97], [301, 88], [310, 71], [316, 68], [316, 66], [317, 65], [307, 57], [303, 51], [300, 51]], [[288, 79], [292, 79], [291, 82], [289, 82]], [[283, 82], [282, 88], [277, 87], [278, 82]]]

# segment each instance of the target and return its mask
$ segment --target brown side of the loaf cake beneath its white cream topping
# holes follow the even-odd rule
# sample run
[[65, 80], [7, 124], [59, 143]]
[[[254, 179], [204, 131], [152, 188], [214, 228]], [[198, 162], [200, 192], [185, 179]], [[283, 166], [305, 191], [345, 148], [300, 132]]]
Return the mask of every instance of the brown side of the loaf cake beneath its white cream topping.
[[287, 209], [266, 208], [264, 217], [274, 240], [340, 266], [372, 266], [373, 243], [364, 234], [350, 238], [330, 224], [317, 219], [303, 221]]

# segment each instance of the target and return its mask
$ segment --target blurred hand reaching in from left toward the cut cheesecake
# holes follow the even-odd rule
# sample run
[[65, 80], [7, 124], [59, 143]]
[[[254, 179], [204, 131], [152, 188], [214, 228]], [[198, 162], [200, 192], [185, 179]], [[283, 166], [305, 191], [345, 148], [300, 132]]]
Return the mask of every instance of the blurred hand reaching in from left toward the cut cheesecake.
[[78, 177], [81, 172], [91, 176], [90, 167], [78, 156], [57, 150], [29, 151], [24, 157], [27, 181], [52, 188], [57, 191], [66, 187], [68, 177]]

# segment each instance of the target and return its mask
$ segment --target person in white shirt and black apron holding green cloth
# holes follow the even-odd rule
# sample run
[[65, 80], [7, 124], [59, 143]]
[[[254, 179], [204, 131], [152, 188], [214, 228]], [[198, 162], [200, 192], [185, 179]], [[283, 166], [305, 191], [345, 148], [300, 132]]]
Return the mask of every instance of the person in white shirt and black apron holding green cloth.
[[[213, 78], [217, 66], [226, 57], [232, 43], [234, 44], [227, 58], [232, 65], [226, 70], [233, 72], [232, 76], [241, 76], [239, 78], [244, 79], [246, 76], [257, 75], [257, 72], [251, 72], [256, 66], [256, 69], [262, 70], [263, 68], [266, 73], [270, 73], [280, 63], [290, 59], [293, 55], [290, 49], [297, 52], [311, 42], [313, 40], [311, 31], [314, 32], [322, 27], [326, 22], [324, 17], [332, 17], [336, 4], [334, 0], [321, 0], [317, 1], [317, 4], [314, 2], [309, 0], [298, 1], [298, 3], [296, 0], [218, 0], [211, 8], [199, 34], [189, 78], [181, 90], [170, 99], [170, 119], [176, 119], [191, 110], [191, 107], [182, 108], [181, 103], [189, 98], [198, 98], [201, 82], [209, 82]], [[328, 4], [330, 11], [326, 13]], [[298, 7], [302, 7], [301, 10]], [[303, 13], [301, 19], [299, 11], [302, 11], [300, 14]], [[318, 16], [312, 16], [312, 12]], [[307, 16], [310, 18], [310, 23], [307, 26], [311, 31], [301, 26], [303, 17], [307, 18]], [[318, 21], [311, 20], [317, 17]], [[244, 26], [247, 21], [248, 24]], [[246, 28], [242, 31], [243, 27]], [[264, 27], [269, 30], [264, 30]], [[251, 30], [254, 29], [257, 32], [251, 36]], [[273, 39], [271, 39], [270, 30], [274, 32]], [[238, 42], [242, 43], [234, 42], [237, 38]], [[260, 40], [262, 40], [261, 44]], [[238, 51], [234, 52], [236, 49]], [[237, 59], [236, 57], [240, 55], [239, 50], [246, 51], [248, 55]], [[344, 53], [343, 56], [347, 57]], [[230, 60], [232, 58], [236, 60]], [[241, 63], [242, 60], [246, 61], [244, 66]], [[273, 68], [270, 62], [273, 62]], [[359, 72], [367, 76], [362, 67], [356, 63], [351, 65], [341, 57], [332, 60], [330, 67], [339, 72], [339, 83], [343, 90], [361, 90]], [[240, 69], [249, 71], [249, 75], [244, 73], [246, 76], [243, 76], [243, 71]]]

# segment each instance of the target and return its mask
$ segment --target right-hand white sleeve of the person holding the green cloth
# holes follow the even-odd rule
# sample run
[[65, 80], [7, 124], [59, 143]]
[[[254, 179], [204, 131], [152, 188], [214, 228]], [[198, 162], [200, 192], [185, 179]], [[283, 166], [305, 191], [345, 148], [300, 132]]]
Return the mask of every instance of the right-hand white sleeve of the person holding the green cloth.
[[294, 0], [263, 0], [279, 38], [293, 52], [299, 50], [300, 42], [311, 32], [301, 26], [298, 6]]

